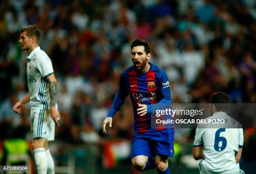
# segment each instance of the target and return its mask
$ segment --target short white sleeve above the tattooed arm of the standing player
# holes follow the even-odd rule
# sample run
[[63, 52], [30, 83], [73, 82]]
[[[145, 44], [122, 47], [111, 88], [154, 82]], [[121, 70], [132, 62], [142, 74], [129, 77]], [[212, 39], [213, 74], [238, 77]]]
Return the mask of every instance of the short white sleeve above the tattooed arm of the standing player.
[[44, 54], [39, 54], [36, 56], [36, 67], [38, 68], [42, 77], [47, 77], [54, 73], [51, 59]]

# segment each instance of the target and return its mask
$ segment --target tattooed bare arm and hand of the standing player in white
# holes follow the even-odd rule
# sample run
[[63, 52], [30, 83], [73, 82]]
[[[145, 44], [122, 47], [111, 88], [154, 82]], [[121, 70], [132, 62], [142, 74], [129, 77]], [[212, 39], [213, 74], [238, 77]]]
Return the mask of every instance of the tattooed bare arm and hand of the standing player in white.
[[48, 77], [46, 77], [46, 82], [48, 82], [48, 84], [49, 84], [49, 93], [50, 93], [50, 98], [51, 98], [51, 104], [50, 104], [51, 118], [59, 126], [61, 117], [59, 115], [59, 111], [56, 109], [57, 80], [56, 80], [54, 74], [51, 74]]

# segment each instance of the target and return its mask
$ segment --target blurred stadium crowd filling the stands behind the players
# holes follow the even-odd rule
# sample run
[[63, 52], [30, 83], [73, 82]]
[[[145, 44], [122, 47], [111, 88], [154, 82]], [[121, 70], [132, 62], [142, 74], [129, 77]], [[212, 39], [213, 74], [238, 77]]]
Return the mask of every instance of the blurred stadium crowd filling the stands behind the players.
[[[172, 102], [207, 103], [213, 92], [221, 91], [232, 102], [256, 103], [255, 0], [2, 0], [0, 11], [2, 144], [12, 137], [31, 141], [29, 104], [21, 115], [13, 113], [13, 104], [28, 92], [26, 52], [18, 38], [20, 28], [29, 24], [41, 29], [40, 46], [58, 80], [62, 123], [54, 147], [56, 142], [94, 143], [104, 154], [105, 144], [130, 143], [133, 112], [128, 97], [107, 135], [101, 125], [120, 72], [132, 65], [134, 38], [151, 44], [151, 62], [169, 76]], [[179, 148], [192, 150], [194, 133], [176, 130]], [[255, 147], [255, 130], [244, 129], [244, 171], [255, 168]], [[103, 161], [102, 167], [108, 165]]]

